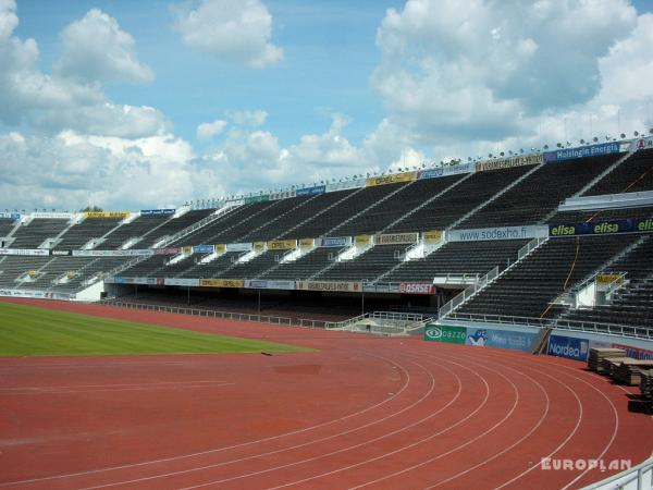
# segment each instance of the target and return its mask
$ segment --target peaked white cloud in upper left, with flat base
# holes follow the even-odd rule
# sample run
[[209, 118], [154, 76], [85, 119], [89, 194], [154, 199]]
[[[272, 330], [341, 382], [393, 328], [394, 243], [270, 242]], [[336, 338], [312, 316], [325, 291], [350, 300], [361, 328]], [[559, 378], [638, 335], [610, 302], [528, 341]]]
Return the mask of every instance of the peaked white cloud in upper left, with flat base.
[[148, 82], [155, 77], [138, 60], [134, 38], [98, 9], [65, 27], [61, 40], [63, 52], [56, 64], [60, 75], [90, 82]]

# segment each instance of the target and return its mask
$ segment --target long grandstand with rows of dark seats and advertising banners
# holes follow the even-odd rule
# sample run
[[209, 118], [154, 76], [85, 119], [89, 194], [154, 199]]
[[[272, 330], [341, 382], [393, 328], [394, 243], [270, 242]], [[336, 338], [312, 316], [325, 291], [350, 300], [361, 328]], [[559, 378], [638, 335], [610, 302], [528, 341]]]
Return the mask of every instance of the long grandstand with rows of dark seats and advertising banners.
[[[205, 304], [229, 295], [230, 307], [245, 309], [248, 290], [276, 291], [316, 315], [336, 303], [326, 298], [362, 295], [368, 307], [433, 313], [472, 286], [447, 315], [649, 327], [650, 140], [297, 187], [211, 209], [4, 213], [0, 286], [19, 296], [181, 294]], [[576, 304], [593, 278], [614, 271], [626, 280], [602, 304]], [[410, 294], [406, 284], [433, 287]]]

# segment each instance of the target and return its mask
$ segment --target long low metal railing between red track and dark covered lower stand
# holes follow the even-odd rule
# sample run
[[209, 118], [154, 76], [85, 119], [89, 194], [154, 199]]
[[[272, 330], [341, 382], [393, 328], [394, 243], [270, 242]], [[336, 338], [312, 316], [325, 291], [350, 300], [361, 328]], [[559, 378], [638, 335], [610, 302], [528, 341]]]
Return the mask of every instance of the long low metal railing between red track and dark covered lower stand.
[[273, 317], [269, 315], [260, 314], [245, 314], [234, 311], [219, 311], [207, 308], [192, 308], [183, 306], [164, 306], [164, 305], [150, 305], [147, 303], [131, 303], [131, 302], [119, 302], [114, 299], [108, 299], [102, 302], [103, 305], [118, 306], [126, 309], [138, 309], [146, 311], [156, 313], [170, 313], [176, 315], [188, 315], [194, 317], [205, 318], [219, 318], [223, 320], [235, 320], [235, 321], [250, 321], [257, 323], [269, 323], [279, 324], [286, 327], [303, 327], [309, 329], [331, 329], [336, 326], [337, 322], [323, 321], [323, 320], [310, 320], [304, 318], [289, 318], [289, 317]]

